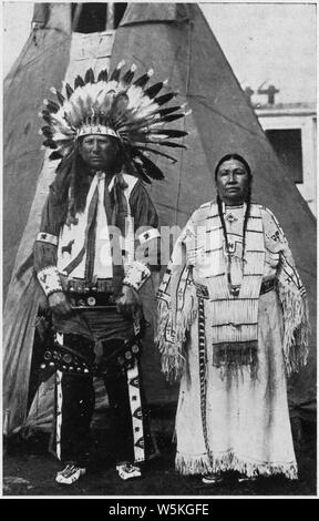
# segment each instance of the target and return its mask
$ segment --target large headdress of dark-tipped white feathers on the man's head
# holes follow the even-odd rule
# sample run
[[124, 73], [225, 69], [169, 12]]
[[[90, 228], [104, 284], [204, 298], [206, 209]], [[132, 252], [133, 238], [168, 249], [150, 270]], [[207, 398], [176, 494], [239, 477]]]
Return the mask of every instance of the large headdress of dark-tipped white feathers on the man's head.
[[53, 150], [52, 160], [71, 159], [79, 137], [111, 135], [120, 140], [126, 161], [142, 178], [161, 180], [163, 172], [150, 160], [150, 153], [176, 161], [161, 147], [185, 147], [174, 140], [187, 132], [165, 125], [191, 111], [185, 112], [185, 104], [164, 106], [177, 93], [158, 95], [165, 81], [147, 88], [152, 69], [134, 81], [136, 67], [122, 74], [123, 65], [121, 62], [110, 75], [102, 70], [96, 81], [89, 69], [84, 78], [75, 78], [74, 89], [65, 83], [63, 93], [52, 88], [56, 101], [44, 100], [45, 109], [39, 114], [45, 122], [40, 131], [45, 137], [43, 145]]

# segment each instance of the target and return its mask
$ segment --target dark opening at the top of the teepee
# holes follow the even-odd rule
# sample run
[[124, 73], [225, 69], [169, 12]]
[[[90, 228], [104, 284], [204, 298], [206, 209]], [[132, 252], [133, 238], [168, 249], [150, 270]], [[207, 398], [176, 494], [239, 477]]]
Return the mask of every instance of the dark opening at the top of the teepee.
[[72, 3], [73, 31], [82, 33], [102, 32], [116, 29], [127, 3]]

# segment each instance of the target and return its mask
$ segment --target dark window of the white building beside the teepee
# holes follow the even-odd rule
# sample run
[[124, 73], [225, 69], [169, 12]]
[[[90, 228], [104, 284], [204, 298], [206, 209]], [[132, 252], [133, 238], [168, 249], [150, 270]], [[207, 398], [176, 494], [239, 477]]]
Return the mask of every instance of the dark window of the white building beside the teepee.
[[288, 173], [290, 173], [292, 181], [303, 183], [301, 130], [266, 130], [266, 135]]

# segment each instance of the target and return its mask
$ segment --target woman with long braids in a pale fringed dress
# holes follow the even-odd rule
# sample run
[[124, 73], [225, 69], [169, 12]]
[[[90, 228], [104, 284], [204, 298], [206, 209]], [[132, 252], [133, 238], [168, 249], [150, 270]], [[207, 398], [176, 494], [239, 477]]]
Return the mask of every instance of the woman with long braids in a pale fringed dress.
[[219, 161], [217, 201], [192, 215], [158, 292], [162, 369], [181, 377], [176, 469], [208, 483], [297, 478], [286, 376], [307, 360], [307, 298], [251, 180], [238, 154]]

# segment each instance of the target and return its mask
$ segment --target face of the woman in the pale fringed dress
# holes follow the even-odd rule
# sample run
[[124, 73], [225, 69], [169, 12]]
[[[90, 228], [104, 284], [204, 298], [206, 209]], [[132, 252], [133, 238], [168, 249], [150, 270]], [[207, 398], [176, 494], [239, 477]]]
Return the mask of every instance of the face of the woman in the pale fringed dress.
[[228, 160], [217, 171], [216, 186], [225, 204], [244, 203], [249, 186], [249, 174], [240, 161]]

